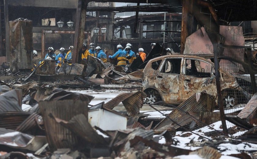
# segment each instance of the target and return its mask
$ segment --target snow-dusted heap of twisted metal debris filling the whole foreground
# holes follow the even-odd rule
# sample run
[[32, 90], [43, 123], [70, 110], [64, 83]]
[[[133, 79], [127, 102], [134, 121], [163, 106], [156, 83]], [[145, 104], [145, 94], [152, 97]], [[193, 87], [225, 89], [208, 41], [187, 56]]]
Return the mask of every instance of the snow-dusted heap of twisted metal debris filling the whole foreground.
[[144, 105], [142, 91], [90, 105], [93, 96], [56, 85], [29, 82], [8, 88], [0, 95], [3, 159], [257, 156], [257, 94], [225, 111], [225, 135], [215, 98], [206, 92], [166, 107]]

